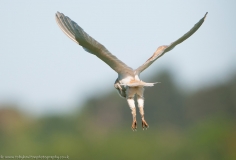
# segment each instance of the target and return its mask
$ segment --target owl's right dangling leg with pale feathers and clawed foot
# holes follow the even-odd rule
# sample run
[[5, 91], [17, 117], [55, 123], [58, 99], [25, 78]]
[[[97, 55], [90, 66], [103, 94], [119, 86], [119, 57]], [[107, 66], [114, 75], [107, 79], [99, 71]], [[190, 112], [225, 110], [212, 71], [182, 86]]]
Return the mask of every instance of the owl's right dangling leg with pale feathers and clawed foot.
[[137, 101], [138, 101], [138, 108], [139, 108], [139, 113], [141, 115], [141, 119], [142, 119], [142, 127], [143, 129], [147, 129], [149, 126], [147, 124], [147, 122], [144, 119], [144, 98], [143, 98], [143, 88], [140, 88], [139, 92], [137, 93]]

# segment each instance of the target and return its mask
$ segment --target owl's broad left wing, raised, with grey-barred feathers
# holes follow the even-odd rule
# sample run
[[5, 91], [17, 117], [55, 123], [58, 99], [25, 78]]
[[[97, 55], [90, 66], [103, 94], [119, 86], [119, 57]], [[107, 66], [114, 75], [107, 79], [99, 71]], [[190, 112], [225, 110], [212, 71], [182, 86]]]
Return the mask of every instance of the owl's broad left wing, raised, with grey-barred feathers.
[[57, 12], [56, 21], [61, 30], [84, 50], [96, 55], [119, 74], [133, 75], [133, 69], [112, 55], [102, 44], [90, 37], [80, 26], [69, 17]]

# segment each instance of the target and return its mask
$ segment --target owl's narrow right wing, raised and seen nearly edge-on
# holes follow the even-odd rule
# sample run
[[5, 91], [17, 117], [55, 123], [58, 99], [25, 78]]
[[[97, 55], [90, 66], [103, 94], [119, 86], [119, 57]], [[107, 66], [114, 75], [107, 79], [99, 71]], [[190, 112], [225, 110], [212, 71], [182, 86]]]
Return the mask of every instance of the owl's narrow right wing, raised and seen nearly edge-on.
[[171, 43], [170, 45], [164, 45], [164, 46], [160, 46], [157, 48], [157, 50], [154, 52], [154, 54], [152, 55], [152, 57], [150, 57], [142, 66], [140, 66], [139, 68], [137, 68], [135, 70], [135, 74], [140, 74], [143, 70], [145, 70], [146, 68], [148, 68], [155, 60], [157, 60], [159, 57], [163, 56], [166, 52], [169, 52], [170, 50], [172, 50], [176, 45], [182, 43], [183, 41], [185, 41], [187, 38], [189, 38], [193, 33], [195, 33], [198, 28], [202, 25], [202, 23], [204, 22], [205, 18], [206, 18], [207, 13], [205, 14], [205, 16], [200, 19], [200, 21], [198, 23], [196, 23], [193, 28], [188, 31], [186, 34], [184, 34], [182, 37], [180, 37], [178, 40], [174, 41], [173, 43]]

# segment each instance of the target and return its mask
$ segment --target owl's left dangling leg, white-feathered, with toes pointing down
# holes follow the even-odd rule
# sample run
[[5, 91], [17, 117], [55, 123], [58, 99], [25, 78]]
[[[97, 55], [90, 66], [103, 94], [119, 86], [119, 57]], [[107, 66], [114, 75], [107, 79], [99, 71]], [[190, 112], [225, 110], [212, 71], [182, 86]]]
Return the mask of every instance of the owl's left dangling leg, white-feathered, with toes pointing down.
[[134, 94], [132, 92], [132, 88], [128, 88], [127, 89], [127, 102], [129, 104], [129, 107], [131, 109], [131, 114], [133, 116], [133, 122], [132, 122], [132, 125], [131, 125], [131, 129], [133, 131], [135, 131], [137, 129], [137, 121], [136, 121], [136, 108], [135, 108], [135, 102], [134, 102]]

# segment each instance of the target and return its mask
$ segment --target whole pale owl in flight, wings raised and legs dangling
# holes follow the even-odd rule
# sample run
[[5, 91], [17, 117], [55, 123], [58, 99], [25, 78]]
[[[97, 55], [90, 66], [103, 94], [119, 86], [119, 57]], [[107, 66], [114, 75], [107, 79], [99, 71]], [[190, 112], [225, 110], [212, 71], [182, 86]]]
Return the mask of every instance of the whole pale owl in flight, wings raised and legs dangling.
[[154, 54], [140, 67], [132, 69], [116, 56], [112, 55], [102, 44], [90, 37], [77, 23], [72, 21], [63, 13], [56, 13], [56, 21], [61, 30], [75, 43], [81, 45], [83, 49], [91, 54], [96, 55], [114, 71], [118, 73], [118, 78], [114, 83], [121, 97], [126, 98], [128, 105], [131, 109], [133, 122], [131, 125], [132, 130], [137, 129], [136, 121], [136, 108], [134, 96], [137, 97], [138, 108], [142, 119], [142, 128], [147, 129], [149, 126], [144, 119], [144, 87], [154, 86], [155, 83], [146, 83], [140, 79], [140, 73], [148, 68], [155, 60], [163, 56], [166, 52], [172, 50], [176, 45], [182, 43], [195, 33], [203, 24], [207, 13], [200, 19], [186, 34], [171, 43], [170, 45], [163, 45], [157, 48]]

